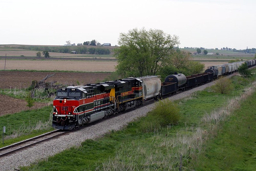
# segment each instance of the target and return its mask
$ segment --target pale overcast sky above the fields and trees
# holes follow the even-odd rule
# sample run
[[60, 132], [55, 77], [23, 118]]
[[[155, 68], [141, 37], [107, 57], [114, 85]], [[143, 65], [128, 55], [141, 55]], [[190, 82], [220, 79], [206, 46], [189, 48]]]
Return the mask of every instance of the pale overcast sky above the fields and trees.
[[0, 44], [118, 45], [133, 28], [178, 35], [180, 47], [256, 48], [255, 0], [0, 0]]

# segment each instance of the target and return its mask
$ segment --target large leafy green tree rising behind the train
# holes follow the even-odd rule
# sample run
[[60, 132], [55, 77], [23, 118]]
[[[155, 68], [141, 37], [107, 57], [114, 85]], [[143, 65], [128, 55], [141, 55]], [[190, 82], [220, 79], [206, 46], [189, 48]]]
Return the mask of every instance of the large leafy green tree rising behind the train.
[[179, 43], [178, 36], [158, 29], [134, 28], [127, 34], [121, 33], [118, 39], [120, 47], [114, 49], [116, 69], [127, 77], [155, 75], [161, 67], [171, 63]]

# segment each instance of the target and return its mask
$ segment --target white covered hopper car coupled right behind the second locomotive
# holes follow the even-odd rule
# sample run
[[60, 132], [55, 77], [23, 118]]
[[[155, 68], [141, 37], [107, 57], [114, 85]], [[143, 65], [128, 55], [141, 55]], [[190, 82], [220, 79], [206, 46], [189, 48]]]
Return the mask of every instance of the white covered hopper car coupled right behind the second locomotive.
[[161, 80], [159, 75], [144, 76], [144, 77], [139, 77], [138, 79], [142, 81], [141, 85], [143, 88], [144, 100], [160, 97]]

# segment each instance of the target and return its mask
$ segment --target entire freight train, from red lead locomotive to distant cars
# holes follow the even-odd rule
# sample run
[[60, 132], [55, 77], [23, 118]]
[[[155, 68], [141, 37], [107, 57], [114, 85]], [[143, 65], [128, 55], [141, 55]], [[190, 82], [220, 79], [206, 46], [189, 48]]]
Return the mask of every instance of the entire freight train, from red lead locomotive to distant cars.
[[189, 76], [174, 73], [164, 82], [160, 76], [144, 76], [58, 89], [51, 112], [52, 127], [74, 129], [83, 126], [143, 105], [150, 99], [156, 100], [232, 74], [243, 63], [252, 67], [256, 65], [256, 59], [209, 66], [204, 73]]

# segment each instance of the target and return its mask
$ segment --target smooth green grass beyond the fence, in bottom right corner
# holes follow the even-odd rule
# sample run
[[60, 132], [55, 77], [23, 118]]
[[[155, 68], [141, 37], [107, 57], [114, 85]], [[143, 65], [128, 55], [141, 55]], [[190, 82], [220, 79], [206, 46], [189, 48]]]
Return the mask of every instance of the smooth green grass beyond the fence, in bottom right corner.
[[194, 156], [193, 170], [254, 171], [256, 168], [256, 93], [223, 123], [215, 138]]

